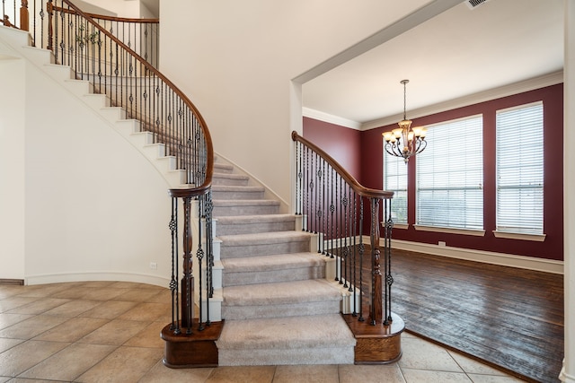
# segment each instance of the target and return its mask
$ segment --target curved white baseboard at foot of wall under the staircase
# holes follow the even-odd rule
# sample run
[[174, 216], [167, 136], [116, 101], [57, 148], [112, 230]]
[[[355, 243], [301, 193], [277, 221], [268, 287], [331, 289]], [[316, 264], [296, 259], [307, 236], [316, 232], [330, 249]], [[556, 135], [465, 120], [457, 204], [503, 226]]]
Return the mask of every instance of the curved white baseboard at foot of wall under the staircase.
[[88, 282], [88, 281], [119, 281], [154, 284], [168, 288], [170, 280], [164, 277], [147, 274], [129, 273], [69, 273], [69, 274], [43, 274], [31, 275], [24, 279], [24, 283], [46, 284], [46, 283], [66, 283], [66, 282]]

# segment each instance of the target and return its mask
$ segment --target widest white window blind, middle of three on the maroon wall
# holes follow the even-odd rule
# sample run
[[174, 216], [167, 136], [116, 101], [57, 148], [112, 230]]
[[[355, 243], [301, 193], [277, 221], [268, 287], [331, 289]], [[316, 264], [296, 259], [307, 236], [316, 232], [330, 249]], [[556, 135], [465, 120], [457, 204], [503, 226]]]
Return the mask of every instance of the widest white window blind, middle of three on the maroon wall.
[[425, 139], [416, 163], [416, 223], [482, 230], [482, 116], [428, 126]]

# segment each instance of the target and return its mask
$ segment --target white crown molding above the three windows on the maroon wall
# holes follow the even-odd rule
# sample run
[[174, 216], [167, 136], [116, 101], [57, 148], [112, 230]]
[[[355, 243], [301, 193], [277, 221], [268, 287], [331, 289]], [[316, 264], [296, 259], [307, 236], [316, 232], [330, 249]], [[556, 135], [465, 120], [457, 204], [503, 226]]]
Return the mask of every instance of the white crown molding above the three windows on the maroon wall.
[[[563, 83], [563, 71], [553, 72], [552, 74], [544, 74], [539, 77], [534, 77], [518, 83], [511, 83], [509, 85], [500, 86], [498, 88], [490, 89], [489, 91], [480, 91], [454, 100], [445, 102], [438, 102], [437, 104], [429, 105], [428, 107], [410, 110], [410, 118], [420, 118], [429, 116], [435, 113], [444, 112], [447, 110], [463, 108], [468, 105], [477, 104], [480, 102], [500, 99], [502, 97], [512, 96], [524, 91], [534, 91], [535, 89], [544, 88], [545, 86]], [[402, 114], [388, 116], [385, 118], [378, 118], [376, 120], [367, 121], [361, 124], [359, 130], [369, 130], [376, 127], [388, 126], [397, 123], [403, 118]]]

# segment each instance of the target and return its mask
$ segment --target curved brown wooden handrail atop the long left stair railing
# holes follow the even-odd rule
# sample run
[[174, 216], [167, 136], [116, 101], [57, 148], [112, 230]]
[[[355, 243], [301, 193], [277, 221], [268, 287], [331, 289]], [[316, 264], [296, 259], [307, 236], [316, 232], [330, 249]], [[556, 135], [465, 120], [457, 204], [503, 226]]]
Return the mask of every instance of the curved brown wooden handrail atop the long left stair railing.
[[[160, 73], [153, 65], [148, 63], [146, 61], [146, 59], [139, 56], [132, 48], [129, 48], [126, 44], [124, 44], [124, 42], [122, 42], [121, 40], [116, 38], [113, 34], [111, 34], [110, 31], [105, 30], [99, 23], [94, 22], [92, 16], [82, 12], [82, 10], [80, 10], [77, 6], [75, 6], [75, 4], [70, 3], [68, 0], [62, 0], [62, 3], [66, 3], [71, 9], [74, 10], [74, 12], [76, 14], [82, 16], [87, 22], [90, 22], [93, 25], [93, 28], [100, 30], [108, 39], [111, 39], [116, 44], [118, 44], [119, 47], [128, 51], [130, 53], [130, 55], [132, 57], [134, 57], [139, 62], [140, 65], [143, 65], [146, 68], [146, 70], [148, 70], [150, 73], [154, 74], [157, 78], [161, 79], [169, 88], [172, 89], [172, 91], [174, 91], [174, 93], [178, 97], [181, 98], [181, 100], [184, 101], [184, 103], [187, 105], [187, 107], [193, 111], [194, 115], [199, 120], [199, 125], [201, 126], [202, 133], [204, 134], [205, 141], [206, 141], [206, 150], [207, 150], [207, 153], [206, 153], [207, 154], [207, 159], [206, 159], [207, 164], [206, 164], [206, 176], [205, 176], [206, 178], [204, 179], [203, 183], [201, 185], [199, 185], [198, 187], [183, 188], [183, 189], [181, 189], [181, 192], [179, 192], [179, 193], [183, 193], [185, 196], [201, 196], [201, 195], [208, 193], [208, 191], [211, 187], [211, 184], [212, 184], [212, 176], [213, 176], [213, 172], [214, 172], [214, 149], [213, 149], [212, 139], [211, 139], [211, 135], [209, 134], [206, 121], [201, 116], [201, 114], [199, 113], [199, 110], [196, 108], [196, 106], [190, 101], [190, 99], [188, 99], [188, 97], [174, 83], [172, 83], [167, 77], [165, 77], [164, 74]], [[51, 15], [56, 10], [56, 8], [57, 7], [54, 6], [51, 3], [51, 1], [49, 1], [49, 5], [47, 7], [47, 9], [49, 10], [49, 15]], [[49, 27], [51, 27], [51, 22], [49, 23]], [[49, 28], [49, 46], [48, 46], [48, 49], [52, 50], [52, 36], [50, 34], [51, 33], [50, 30], [51, 30], [51, 28]]]

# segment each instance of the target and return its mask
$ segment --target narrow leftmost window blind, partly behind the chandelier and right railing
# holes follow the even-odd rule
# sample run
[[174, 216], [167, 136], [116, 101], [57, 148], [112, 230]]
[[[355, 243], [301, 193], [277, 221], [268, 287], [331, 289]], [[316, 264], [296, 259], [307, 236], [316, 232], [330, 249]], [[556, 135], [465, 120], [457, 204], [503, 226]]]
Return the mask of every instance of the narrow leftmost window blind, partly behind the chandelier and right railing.
[[384, 189], [394, 192], [392, 199], [394, 223], [407, 223], [407, 164], [402, 157], [395, 157], [385, 150]]

